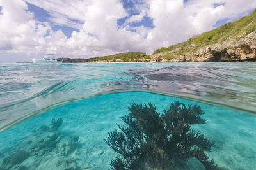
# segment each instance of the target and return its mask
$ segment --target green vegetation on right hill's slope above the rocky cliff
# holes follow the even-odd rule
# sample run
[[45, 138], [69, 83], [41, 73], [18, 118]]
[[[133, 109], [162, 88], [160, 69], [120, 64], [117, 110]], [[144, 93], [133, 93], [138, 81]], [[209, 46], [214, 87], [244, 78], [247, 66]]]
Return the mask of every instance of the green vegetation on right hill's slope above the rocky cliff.
[[256, 10], [254, 10], [250, 15], [240, 18], [235, 22], [227, 23], [199, 36], [189, 38], [187, 41], [177, 45], [159, 48], [154, 53], [169, 52], [177, 49], [176, 52], [168, 53], [166, 56], [164, 56], [164, 59], [173, 59], [174, 57], [178, 57], [179, 55], [183, 55], [185, 53], [195, 52], [196, 50], [199, 50], [207, 45], [223, 43], [223, 41], [230, 38], [236, 38], [237, 36], [244, 37], [255, 30]]

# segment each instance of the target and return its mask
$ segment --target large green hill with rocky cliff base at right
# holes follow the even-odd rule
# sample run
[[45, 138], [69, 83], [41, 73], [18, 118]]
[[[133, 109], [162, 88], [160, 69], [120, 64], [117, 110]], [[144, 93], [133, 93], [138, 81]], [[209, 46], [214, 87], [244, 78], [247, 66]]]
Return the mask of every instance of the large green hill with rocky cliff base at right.
[[154, 62], [256, 61], [256, 10], [199, 36], [159, 48]]

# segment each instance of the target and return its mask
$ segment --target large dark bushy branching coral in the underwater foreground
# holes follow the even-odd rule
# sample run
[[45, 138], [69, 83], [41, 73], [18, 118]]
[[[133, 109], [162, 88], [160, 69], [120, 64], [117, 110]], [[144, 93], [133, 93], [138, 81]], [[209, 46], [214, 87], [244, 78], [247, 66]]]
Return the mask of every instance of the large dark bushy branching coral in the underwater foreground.
[[218, 169], [205, 151], [212, 143], [200, 131], [191, 129], [193, 124], [205, 124], [199, 106], [176, 101], [163, 114], [152, 103], [129, 107], [129, 115], [122, 117], [126, 125], [109, 132], [106, 143], [122, 155], [111, 161], [111, 169], [177, 169], [195, 158], [205, 169]]

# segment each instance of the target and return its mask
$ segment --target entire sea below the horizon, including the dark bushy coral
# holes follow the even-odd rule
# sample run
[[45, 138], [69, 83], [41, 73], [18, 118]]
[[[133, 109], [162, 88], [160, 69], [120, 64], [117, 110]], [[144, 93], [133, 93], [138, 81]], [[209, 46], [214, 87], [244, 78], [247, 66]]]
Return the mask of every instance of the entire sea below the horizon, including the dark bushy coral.
[[255, 169], [256, 64], [50, 65], [0, 65], [0, 169]]

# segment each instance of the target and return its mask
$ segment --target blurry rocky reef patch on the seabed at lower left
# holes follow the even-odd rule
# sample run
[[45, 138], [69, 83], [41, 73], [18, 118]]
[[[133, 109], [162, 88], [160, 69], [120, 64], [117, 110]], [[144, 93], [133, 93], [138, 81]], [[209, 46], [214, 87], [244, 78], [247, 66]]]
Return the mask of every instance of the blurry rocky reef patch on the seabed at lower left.
[[[79, 137], [58, 132], [62, 118], [52, 119], [50, 125], [33, 129], [28, 136], [13, 146], [1, 161], [2, 169], [81, 169], [77, 166], [79, 155]], [[0, 170], [1, 170], [0, 168]]]

